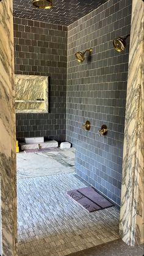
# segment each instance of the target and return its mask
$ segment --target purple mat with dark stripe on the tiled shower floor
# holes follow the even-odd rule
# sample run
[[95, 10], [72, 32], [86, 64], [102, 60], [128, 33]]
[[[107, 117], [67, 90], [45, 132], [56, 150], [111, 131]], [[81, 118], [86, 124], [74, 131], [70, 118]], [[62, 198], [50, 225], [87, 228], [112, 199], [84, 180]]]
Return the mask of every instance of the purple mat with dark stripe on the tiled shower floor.
[[70, 195], [73, 200], [77, 201], [79, 205], [87, 209], [89, 213], [113, 206], [103, 195], [98, 194], [93, 187], [74, 189], [68, 191], [67, 194]]

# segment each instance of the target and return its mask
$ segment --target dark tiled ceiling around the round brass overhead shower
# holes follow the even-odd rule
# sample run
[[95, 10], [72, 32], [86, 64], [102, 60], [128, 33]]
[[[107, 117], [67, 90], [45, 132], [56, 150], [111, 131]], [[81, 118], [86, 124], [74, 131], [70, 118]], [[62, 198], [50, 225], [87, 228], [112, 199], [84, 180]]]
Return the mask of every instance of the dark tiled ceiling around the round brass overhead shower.
[[13, 0], [13, 16], [68, 26], [104, 2], [107, 0], [53, 0], [51, 9], [41, 10], [32, 0]]

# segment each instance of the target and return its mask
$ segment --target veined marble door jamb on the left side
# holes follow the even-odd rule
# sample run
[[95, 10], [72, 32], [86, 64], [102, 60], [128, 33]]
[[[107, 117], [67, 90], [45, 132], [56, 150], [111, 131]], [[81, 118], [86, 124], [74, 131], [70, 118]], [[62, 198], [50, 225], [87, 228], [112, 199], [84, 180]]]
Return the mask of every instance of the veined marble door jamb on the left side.
[[0, 1], [1, 255], [17, 255], [12, 0]]

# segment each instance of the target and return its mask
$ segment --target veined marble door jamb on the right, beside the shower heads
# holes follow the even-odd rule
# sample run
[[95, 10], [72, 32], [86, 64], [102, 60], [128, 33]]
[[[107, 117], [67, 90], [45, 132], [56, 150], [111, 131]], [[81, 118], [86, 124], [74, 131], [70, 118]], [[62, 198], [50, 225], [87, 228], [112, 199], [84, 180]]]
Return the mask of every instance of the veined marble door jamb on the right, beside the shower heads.
[[143, 1], [132, 1], [128, 89], [123, 148], [120, 235], [142, 243], [143, 225]]

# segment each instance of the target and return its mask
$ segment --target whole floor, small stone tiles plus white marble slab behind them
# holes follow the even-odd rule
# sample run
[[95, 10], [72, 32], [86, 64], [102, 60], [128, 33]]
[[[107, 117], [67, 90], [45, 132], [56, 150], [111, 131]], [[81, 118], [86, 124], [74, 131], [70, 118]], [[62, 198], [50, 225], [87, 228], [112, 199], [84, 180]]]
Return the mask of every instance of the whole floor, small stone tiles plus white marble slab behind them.
[[19, 152], [18, 256], [69, 255], [118, 236], [115, 206], [88, 213], [67, 195], [85, 187], [75, 175], [74, 148]]

